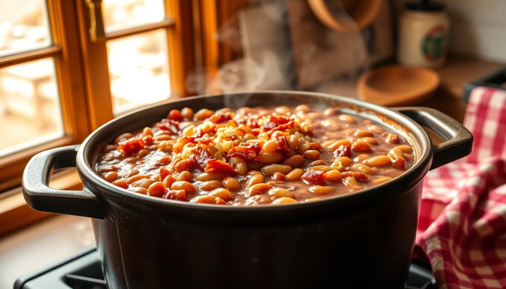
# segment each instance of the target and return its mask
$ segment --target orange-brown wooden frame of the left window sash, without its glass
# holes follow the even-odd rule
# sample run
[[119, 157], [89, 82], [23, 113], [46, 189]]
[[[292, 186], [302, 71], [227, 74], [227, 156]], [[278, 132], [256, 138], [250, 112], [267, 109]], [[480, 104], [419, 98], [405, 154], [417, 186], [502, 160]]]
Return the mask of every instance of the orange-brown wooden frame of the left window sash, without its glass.
[[73, 13], [73, 3], [65, 0], [48, 0], [47, 10], [52, 44], [49, 47], [1, 57], [0, 68], [47, 57], [54, 59], [64, 136], [0, 158], [0, 192], [21, 183], [24, 167], [34, 154], [52, 147], [79, 143], [90, 130], [88, 123], [82, 121], [86, 119], [87, 105], [85, 88], [81, 84], [78, 42], [73, 33], [77, 23], [69, 18]]

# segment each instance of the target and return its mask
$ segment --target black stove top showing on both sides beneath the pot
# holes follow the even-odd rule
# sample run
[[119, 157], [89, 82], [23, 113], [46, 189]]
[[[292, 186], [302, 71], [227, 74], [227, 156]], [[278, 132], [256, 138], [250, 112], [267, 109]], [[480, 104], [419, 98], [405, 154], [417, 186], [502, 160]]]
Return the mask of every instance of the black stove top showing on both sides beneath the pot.
[[[44, 270], [20, 277], [14, 289], [107, 289], [95, 247]], [[436, 289], [429, 268], [412, 263], [406, 289]]]

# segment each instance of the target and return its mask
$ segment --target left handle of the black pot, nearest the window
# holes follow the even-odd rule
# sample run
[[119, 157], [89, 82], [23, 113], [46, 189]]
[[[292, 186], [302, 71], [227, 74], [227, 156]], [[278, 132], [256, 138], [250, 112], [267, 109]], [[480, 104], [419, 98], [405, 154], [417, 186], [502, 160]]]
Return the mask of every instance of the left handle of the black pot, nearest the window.
[[46, 150], [34, 155], [23, 172], [23, 196], [33, 210], [104, 219], [99, 199], [87, 188], [57, 190], [48, 186], [51, 173], [75, 167], [79, 145]]

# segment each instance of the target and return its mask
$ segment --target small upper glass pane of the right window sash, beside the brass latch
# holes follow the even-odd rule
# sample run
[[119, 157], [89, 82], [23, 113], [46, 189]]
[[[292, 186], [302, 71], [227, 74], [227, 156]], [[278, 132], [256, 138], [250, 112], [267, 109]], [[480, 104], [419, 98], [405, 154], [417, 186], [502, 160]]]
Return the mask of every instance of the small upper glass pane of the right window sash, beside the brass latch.
[[165, 17], [163, 0], [104, 0], [105, 31], [159, 22]]

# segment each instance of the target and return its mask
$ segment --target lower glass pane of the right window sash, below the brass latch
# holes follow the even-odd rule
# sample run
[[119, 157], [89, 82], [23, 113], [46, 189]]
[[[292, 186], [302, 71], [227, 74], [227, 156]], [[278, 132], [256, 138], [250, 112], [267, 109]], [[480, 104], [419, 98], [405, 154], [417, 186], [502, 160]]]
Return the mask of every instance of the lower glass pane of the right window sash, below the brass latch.
[[164, 29], [111, 40], [107, 57], [115, 115], [170, 97]]

